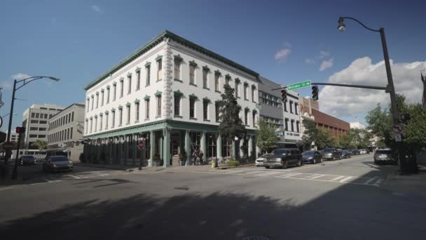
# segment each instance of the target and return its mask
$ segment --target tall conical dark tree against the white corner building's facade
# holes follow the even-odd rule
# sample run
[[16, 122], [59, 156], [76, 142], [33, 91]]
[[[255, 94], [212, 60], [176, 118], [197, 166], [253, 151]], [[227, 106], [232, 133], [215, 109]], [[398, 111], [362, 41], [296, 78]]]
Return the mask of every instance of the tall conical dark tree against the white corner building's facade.
[[[244, 137], [245, 126], [240, 119], [241, 106], [238, 105], [237, 98], [234, 97], [234, 89], [229, 84], [224, 85], [225, 93], [222, 93], [222, 100], [219, 101], [219, 110], [221, 112], [219, 124], [219, 133], [222, 138], [232, 142], [233, 138]], [[238, 149], [238, 148], [235, 148]], [[231, 148], [231, 156], [233, 155]]]

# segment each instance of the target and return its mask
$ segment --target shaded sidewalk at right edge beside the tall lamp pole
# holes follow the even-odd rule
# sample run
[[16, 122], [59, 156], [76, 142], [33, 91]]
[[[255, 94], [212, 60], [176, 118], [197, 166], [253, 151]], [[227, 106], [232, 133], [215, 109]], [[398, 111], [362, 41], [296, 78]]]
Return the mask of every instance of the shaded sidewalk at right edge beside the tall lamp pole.
[[399, 175], [395, 172], [384, 187], [394, 195], [426, 198], [426, 166], [419, 166], [418, 174]]

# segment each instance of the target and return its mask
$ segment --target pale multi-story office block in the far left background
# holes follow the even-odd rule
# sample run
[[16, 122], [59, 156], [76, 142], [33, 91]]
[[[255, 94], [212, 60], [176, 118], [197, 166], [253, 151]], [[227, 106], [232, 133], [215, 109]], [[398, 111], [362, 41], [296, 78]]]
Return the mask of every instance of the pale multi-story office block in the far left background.
[[22, 126], [26, 128], [24, 145], [28, 149], [36, 149], [32, 146], [36, 140], [47, 142], [48, 120], [63, 107], [52, 104], [33, 104], [22, 114]]

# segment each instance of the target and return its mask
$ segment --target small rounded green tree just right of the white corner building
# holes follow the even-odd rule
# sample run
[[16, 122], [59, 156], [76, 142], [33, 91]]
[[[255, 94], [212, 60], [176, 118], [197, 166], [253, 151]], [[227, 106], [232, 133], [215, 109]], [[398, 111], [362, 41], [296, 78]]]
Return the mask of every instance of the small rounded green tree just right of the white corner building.
[[259, 120], [258, 126], [257, 147], [260, 147], [263, 152], [269, 152], [270, 149], [276, 148], [275, 142], [278, 138], [275, 133], [275, 126], [264, 119]]

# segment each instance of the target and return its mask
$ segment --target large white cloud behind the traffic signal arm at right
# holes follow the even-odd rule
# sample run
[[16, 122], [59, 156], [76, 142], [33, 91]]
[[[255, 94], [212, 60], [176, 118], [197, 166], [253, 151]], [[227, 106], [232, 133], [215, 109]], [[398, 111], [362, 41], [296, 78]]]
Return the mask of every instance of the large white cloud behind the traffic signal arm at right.
[[[410, 102], [420, 102], [422, 96], [420, 71], [426, 68], [426, 61], [408, 63], [391, 61], [391, 68], [397, 93], [405, 95]], [[380, 61], [373, 64], [369, 57], [358, 58], [347, 68], [332, 74], [328, 81], [338, 84], [386, 86], [385, 63]], [[364, 88], [324, 86], [319, 97], [321, 111], [337, 117], [366, 114], [378, 103], [382, 107], [387, 107], [390, 103], [390, 96], [385, 91]]]

